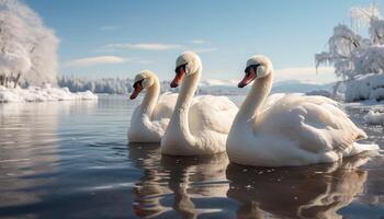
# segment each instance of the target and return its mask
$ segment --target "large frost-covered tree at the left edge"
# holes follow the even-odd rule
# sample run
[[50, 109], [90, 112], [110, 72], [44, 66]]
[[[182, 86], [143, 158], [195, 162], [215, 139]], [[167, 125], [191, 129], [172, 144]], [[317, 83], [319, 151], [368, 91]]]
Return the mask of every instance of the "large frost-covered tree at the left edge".
[[0, 0], [0, 85], [56, 82], [58, 39], [18, 0]]

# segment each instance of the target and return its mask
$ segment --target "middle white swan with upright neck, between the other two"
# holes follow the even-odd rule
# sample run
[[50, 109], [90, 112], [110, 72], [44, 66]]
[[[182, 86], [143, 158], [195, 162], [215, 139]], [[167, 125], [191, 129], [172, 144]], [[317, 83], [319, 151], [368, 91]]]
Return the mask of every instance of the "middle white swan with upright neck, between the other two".
[[238, 111], [225, 96], [193, 99], [202, 72], [200, 57], [181, 54], [176, 61], [172, 88], [182, 85], [171, 120], [161, 139], [161, 152], [173, 155], [202, 155], [225, 151], [230, 125]]

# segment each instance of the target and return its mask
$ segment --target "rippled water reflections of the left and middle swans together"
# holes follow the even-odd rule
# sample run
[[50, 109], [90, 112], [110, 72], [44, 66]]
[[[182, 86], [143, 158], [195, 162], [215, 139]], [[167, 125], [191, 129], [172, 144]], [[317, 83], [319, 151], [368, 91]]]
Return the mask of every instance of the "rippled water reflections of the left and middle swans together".
[[226, 153], [208, 157], [160, 154], [159, 146], [129, 145], [129, 159], [144, 175], [134, 186], [134, 211], [140, 217], [234, 218], [223, 208], [229, 183]]

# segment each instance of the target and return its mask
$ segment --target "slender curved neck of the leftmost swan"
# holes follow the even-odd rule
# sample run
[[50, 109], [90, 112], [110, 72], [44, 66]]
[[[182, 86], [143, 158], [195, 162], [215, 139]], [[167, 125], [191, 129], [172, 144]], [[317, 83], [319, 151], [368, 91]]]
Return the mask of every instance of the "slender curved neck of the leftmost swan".
[[142, 102], [142, 113], [143, 115], [151, 116], [156, 103], [158, 101], [160, 93], [160, 82], [158, 79], [155, 79], [155, 82], [153, 85], [146, 89], [146, 93], [144, 96], [144, 100]]

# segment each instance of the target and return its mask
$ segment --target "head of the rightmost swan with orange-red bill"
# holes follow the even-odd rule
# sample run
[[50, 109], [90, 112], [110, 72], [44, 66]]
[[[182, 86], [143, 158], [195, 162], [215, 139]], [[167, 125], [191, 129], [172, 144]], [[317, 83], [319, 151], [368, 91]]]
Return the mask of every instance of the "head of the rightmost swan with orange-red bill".
[[273, 66], [271, 60], [266, 56], [252, 56], [247, 60], [245, 77], [237, 84], [239, 88], [248, 85], [257, 79], [264, 78], [272, 73]]

